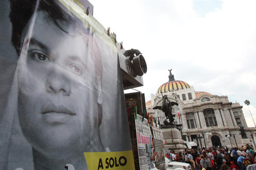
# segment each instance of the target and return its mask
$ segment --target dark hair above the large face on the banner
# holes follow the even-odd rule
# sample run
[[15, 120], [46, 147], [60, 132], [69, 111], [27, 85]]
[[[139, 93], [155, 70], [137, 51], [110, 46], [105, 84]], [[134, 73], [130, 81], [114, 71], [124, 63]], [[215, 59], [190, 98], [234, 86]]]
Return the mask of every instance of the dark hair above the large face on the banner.
[[68, 10], [64, 10], [64, 5], [57, 0], [10, 0], [11, 12], [9, 17], [12, 23], [12, 45], [18, 54], [20, 54], [22, 32], [35, 12], [37, 3], [39, 3], [37, 10], [47, 12], [49, 18], [66, 33], [68, 32], [61, 27], [60, 22], [82, 23], [76, 22], [74, 15]]

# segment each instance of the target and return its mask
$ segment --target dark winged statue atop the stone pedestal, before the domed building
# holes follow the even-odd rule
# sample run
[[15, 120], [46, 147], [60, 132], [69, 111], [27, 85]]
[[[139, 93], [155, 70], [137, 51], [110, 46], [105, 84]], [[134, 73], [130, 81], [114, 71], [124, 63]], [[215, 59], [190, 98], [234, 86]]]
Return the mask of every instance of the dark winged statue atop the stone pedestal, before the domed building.
[[[163, 111], [165, 113], [165, 121], [163, 121], [163, 123], [167, 126], [167, 125], [174, 125], [174, 117], [175, 115], [172, 114], [172, 106], [174, 105], [178, 105], [178, 103], [176, 102], [171, 102], [167, 95], [163, 96], [162, 93], [162, 97], [163, 97], [163, 103], [162, 106], [155, 106], [153, 109], [159, 109], [161, 111]], [[167, 121], [167, 119], [169, 119], [169, 122]]]

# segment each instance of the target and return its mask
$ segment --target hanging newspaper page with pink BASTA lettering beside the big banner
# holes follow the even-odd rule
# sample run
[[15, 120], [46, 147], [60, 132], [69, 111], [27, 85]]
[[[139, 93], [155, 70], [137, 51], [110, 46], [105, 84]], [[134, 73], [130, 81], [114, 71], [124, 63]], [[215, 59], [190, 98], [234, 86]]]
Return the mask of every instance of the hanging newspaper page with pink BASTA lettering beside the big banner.
[[136, 135], [139, 154], [140, 170], [150, 170], [154, 168], [152, 157], [151, 131], [147, 119], [142, 121], [142, 116], [135, 116]]

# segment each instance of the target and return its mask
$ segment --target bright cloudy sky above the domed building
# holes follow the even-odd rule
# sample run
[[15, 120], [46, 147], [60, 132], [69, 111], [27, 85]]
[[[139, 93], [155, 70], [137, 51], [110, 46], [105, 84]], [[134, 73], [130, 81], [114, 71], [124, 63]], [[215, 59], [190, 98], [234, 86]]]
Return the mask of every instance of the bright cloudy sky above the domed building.
[[[176, 80], [243, 105], [248, 127], [256, 120], [255, 0], [90, 0], [94, 17], [147, 62], [144, 86], [150, 94]], [[125, 90], [125, 93], [133, 92]]]

